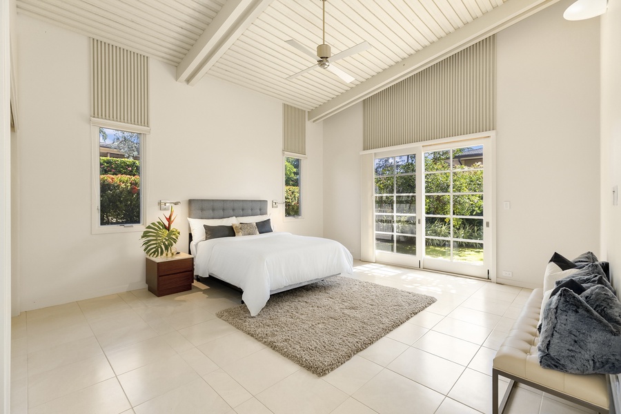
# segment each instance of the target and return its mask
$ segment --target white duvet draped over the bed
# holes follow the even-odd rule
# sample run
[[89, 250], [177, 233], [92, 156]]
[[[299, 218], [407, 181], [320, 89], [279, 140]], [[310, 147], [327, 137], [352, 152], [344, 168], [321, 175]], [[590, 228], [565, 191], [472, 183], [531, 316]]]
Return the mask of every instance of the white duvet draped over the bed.
[[353, 273], [353, 259], [349, 250], [334, 240], [264, 233], [199, 242], [195, 273], [202, 277], [211, 274], [242, 288], [242, 299], [255, 316], [270, 298], [270, 290]]

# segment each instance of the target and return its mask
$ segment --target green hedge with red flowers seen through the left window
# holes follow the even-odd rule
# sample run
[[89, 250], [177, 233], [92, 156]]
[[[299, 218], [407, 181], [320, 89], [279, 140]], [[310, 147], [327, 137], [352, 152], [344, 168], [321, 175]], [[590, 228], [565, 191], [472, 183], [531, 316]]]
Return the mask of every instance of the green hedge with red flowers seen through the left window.
[[101, 175], [99, 183], [102, 226], [140, 222], [139, 175]]

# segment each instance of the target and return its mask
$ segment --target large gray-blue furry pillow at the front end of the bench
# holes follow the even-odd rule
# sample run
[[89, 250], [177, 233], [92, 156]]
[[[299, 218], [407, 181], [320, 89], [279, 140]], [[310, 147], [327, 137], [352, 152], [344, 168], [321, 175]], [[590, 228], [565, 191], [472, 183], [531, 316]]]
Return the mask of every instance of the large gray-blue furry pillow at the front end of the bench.
[[621, 373], [621, 335], [566, 288], [546, 304], [538, 350], [544, 368], [573, 374]]

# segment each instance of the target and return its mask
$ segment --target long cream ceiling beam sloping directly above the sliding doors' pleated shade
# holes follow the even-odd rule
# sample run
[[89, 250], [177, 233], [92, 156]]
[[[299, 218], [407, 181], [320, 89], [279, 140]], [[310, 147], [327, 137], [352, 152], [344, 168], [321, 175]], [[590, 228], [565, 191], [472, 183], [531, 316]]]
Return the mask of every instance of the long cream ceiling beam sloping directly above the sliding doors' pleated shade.
[[491, 10], [462, 28], [455, 30], [426, 48], [406, 57], [399, 63], [366, 79], [359, 85], [323, 103], [308, 112], [309, 121], [322, 121], [380, 90], [411, 77], [417, 72], [446, 59], [460, 50], [472, 46], [500, 30], [526, 19], [526, 17], [553, 5], [559, 0], [507, 0], [502, 6]]

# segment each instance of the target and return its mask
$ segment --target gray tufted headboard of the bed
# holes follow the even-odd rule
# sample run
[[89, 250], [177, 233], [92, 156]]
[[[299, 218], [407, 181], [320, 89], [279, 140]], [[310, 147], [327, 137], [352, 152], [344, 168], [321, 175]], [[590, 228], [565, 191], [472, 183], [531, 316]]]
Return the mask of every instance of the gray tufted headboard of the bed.
[[267, 214], [267, 200], [188, 200], [190, 219], [224, 219]]

